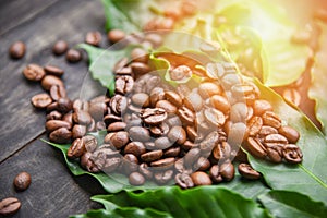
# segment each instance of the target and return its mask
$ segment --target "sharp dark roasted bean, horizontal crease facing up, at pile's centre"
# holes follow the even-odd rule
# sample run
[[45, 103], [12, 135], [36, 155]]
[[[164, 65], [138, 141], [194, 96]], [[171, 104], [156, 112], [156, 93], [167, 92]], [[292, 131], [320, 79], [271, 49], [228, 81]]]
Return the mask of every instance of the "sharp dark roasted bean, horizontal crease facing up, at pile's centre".
[[167, 112], [162, 108], [145, 108], [141, 112], [141, 118], [148, 125], [158, 125], [167, 119]]

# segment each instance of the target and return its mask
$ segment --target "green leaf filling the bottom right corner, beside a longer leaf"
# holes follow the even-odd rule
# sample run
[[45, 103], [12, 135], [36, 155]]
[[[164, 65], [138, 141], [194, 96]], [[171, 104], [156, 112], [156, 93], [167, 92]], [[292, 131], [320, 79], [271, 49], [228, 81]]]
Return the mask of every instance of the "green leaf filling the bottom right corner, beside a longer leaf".
[[270, 191], [258, 197], [274, 217], [323, 218], [327, 207], [306, 195], [288, 191]]

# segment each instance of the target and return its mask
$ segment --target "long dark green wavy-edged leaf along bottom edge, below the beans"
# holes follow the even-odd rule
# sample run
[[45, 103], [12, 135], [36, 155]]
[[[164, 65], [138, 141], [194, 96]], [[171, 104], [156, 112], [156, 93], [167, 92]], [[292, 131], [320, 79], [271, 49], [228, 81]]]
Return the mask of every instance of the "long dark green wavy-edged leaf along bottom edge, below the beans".
[[252, 199], [219, 186], [181, 190], [168, 186], [143, 193], [121, 192], [116, 195], [94, 196], [94, 201], [111, 205], [109, 208], [154, 208], [172, 217], [270, 217]]

